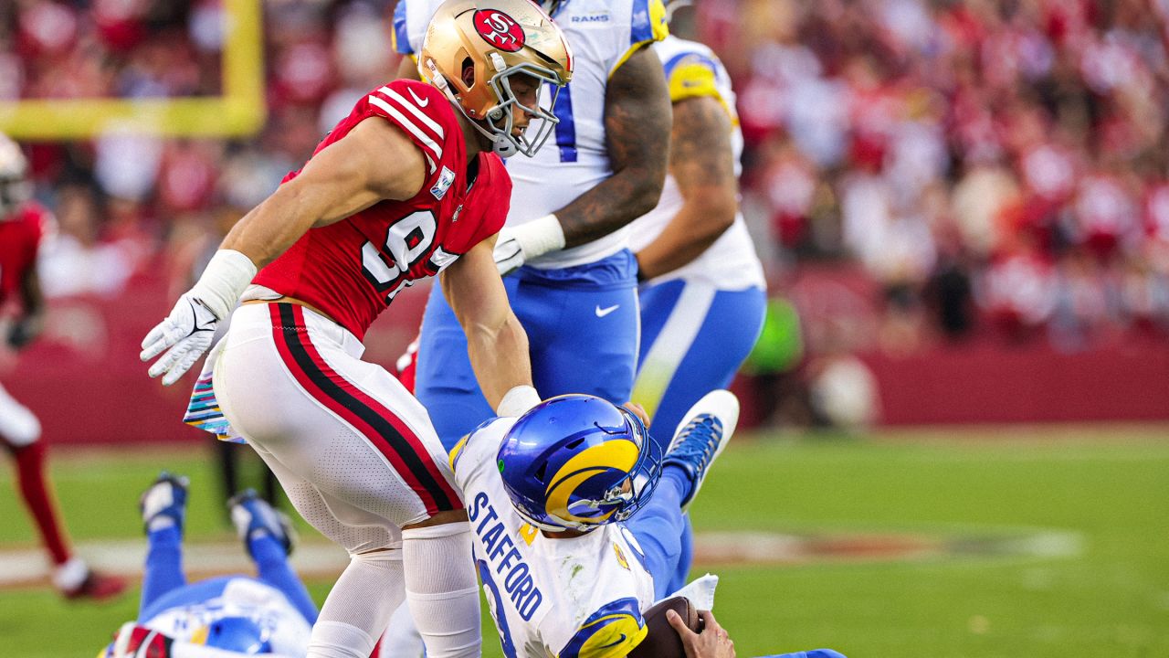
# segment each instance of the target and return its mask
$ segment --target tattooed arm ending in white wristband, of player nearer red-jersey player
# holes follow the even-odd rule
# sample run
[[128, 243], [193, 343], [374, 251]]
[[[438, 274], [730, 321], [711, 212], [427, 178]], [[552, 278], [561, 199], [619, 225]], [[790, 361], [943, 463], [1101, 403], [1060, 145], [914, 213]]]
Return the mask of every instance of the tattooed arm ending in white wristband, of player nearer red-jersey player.
[[613, 176], [555, 212], [565, 247], [596, 240], [653, 210], [665, 183], [671, 116], [662, 62], [652, 48], [641, 48], [606, 89]]

